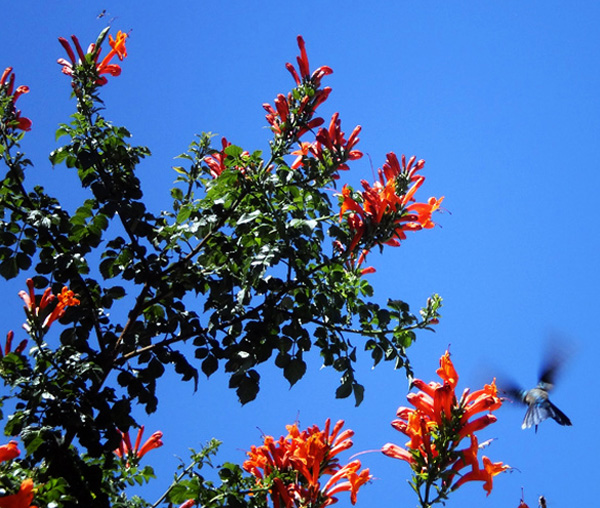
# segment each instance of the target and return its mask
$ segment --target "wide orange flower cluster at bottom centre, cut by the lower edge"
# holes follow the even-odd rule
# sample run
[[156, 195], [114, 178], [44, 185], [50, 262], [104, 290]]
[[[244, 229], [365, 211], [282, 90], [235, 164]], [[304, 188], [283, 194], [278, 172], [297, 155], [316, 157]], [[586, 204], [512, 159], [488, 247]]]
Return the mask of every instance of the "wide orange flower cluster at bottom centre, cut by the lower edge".
[[[337, 501], [335, 494], [350, 492], [356, 503], [358, 489], [371, 479], [368, 469], [359, 471], [358, 460], [341, 466], [338, 453], [352, 446], [351, 430], [340, 433], [344, 422], [330, 429], [330, 420], [320, 430], [316, 425], [300, 432], [288, 425], [288, 435], [277, 441], [265, 436], [262, 446], [252, 446], [243, 468], [254, 475], [257, 485], [267, 489], [275, 508], [310, 506], [321, 508]], [[322, 486], [321, 477], [330, 478]]]

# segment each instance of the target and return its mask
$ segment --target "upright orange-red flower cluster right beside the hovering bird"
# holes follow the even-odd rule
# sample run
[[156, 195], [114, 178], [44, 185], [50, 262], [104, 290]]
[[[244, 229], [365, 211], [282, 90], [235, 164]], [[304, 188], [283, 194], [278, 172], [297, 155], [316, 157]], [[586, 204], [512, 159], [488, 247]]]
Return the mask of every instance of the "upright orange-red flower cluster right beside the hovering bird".
[[[485, 456], [482, 465], [478, 460], [480, 446], [475, 433], [496, 421], [492, 411], [502, 405], [495, 382], [474, 392], [466, 389], [457, 399], [458, 374], [448, 352], [442, 356], [437, 373], [443, 383], [413, 381], [419, 391], [410, 393], [407, 399], [414, 409], [400, 407], [398, 419], [392, 422], [396, 430], [409, 437], [406, 447], [388, 443], [382, 452], [410, 464], [414, 473], [413, 487], [419, 496], [421, 487], [425, 487], [422, 501], [441, 501], [448, 492], [469, 481], [483, 481], [489, 495], [493, 477], [509, 469], [509, 466], [494, 463]], [[472, 419], [482, 412], [487, 413]], [[464, 438], [469, 438], [469, 445], [459, 450]], [[470, 469], [464, 472], [465, 468]], [[432, 501], [428, 496], [433, 485], [438, 490], [438, 497]]]

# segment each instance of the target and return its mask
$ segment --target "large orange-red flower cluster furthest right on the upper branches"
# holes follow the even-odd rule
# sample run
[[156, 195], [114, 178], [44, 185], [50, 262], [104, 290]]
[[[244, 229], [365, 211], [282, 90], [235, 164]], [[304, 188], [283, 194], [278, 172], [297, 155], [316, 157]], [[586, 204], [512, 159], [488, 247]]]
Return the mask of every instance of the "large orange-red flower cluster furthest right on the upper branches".
[[435, 225], [431, 216], [444, 198], [430, 198], [427, 203], [413, 202], [414, 194], [425, 181], [424, 176], [417, 174], [424, 165], [424, 160], [417, 161], [414, 156], [407, 162], [403, 155], [399, 161], [390, 152], [383, 168], [378, 169], [379, 179], [373, 185], [362, 180], [362, 192], [344, 185], [340, 220], [346, 218], [352, 233], [348, 245], [351, 256], [356, 256], [361, 242], [365, 244], [365, 248], [360, 249], [363, 254], [373, 244], [399, 246], [407, 231], [429, 229]]

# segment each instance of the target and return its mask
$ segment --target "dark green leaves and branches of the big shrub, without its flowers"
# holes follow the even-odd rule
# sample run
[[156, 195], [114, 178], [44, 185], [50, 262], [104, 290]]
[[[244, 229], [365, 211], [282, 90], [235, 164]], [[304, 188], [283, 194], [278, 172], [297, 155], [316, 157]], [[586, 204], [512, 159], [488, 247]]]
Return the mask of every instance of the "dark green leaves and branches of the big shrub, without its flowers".
[[[77, 112], [56, 133], [66, 144], [50, 155], [57, 170], [88, 189], [68, 196], [70, 206], [80, 199], [73, 214], [43, 188], [27, 190], [31, 163], [15, 152], [22, 133], [1, 126], [0, 275], [21, 277], [25, 288], [33, 274], [36, 309], [48, 286], [54, 294], [68, 286], [80, 304], [52, 325], [52, 339], [41, 314], [30, 311], [31, 357], [2, 359], [16, 404], [5, 433], [20, 435], [27, 457], [0, 471], [22, 467], [13, 477], [33, 474], [43, 485], [38, 498], [56, 506], [147, 506], [128, 499], [124, 488], [148, 481], [151, 469], [126, 466], [113, 450], [117, 429], [135, 426], [134, 404], [156, 410], [166, 373], [197, 387], [199, 371], [208, 377], [221, 369], [248, 403], [259, 393], [261, 364], [272, 361], [293, 385], [306, 373], [305, 353], [316, 348], [340, 373], [336, 397], [353, 395], [358, 405], [364, 389], [355, 378], [357, 351], [410, 374], [406, 348], [417, 328], [435, 322], [440, 300], [430, 299], [420, 319], [399, 300], [381, 307], [369, 301], [373, 288], [349, 254], [333, 247], [347, 245], [351, 233], [325, 188], [335, 185], [348, 154], [327, 152], [298, 169], [284, 159], [298, 141], [290, 133], [314, 114], [299, 108], [317, 84], [293, 91], [296, 110], [268, 158], [225, 142], [217, 150], [209, 134], [199, 136], [175, 168], [172, 209], [160, 212], [148, 210], [136, 176], [150, 151], [130, 145], [130, 133], [102, 116], [94, 65], [88, 55], [74, 71]], [[109, 309], [126, 317], [113, 318]], [[200, 468], [215, 449], [213, 443], [195, 455], [193, 465]], [[225, 464], [219, 478], [215, 486], [186, 469], [167, 499], [264, 504], [246, 495], [252, 485], [238, 466]]]

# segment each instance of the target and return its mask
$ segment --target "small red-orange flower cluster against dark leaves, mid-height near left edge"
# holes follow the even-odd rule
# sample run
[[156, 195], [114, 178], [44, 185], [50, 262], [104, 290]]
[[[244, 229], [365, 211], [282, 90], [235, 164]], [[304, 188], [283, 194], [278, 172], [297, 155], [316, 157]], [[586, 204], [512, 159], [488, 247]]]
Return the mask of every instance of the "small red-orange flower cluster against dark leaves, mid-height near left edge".
[[[47, 330], [54, 321], [65, 315], [67, 307], [74, 307], [81, 303], [67, 286], [64, 286], [58, 295], [54, 295], [51, 288], [46, 288], [37, 301], [33, 280], [27, 279], [26, 284], [27, 291], [19, 291], [19, 296], [25, 302], [25, 313], [29, 324], [24, 327], [28, 330], [31, 328], [30, 325], [39, 326], [40, 323], [42, 328]], [[57, 303], [52, 308], [50, 304], [55, 300]]]

